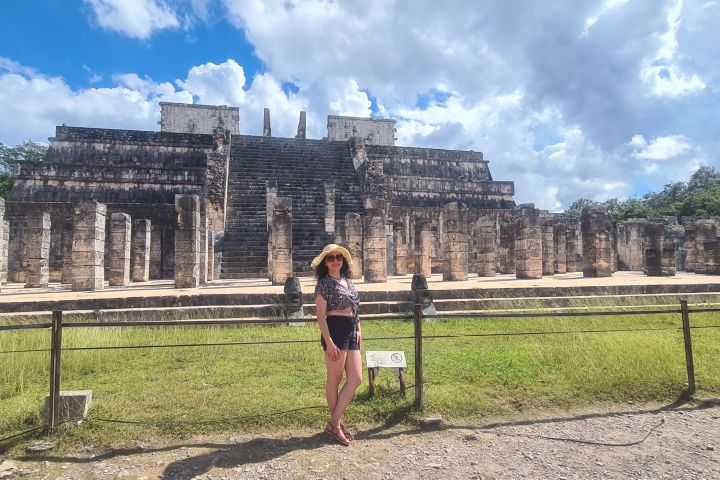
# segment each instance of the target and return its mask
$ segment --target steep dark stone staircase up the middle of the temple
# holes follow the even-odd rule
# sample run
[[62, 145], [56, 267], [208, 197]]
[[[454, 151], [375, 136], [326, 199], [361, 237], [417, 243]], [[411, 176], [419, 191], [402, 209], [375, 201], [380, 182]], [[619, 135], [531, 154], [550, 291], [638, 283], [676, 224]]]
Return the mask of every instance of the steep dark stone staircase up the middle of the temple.
[[[360, 185], [347, 142], [249, 135], [232, 137], [220, 278], [267, 276], [266, 192], [293, 201], [293, 271], [312, 273], [310, 262], [333, 241], [325, 232], [325, 181], [336, 184], [335, 218], [360, 212]], [[320, 181], [313, 179], [322, 179]]]

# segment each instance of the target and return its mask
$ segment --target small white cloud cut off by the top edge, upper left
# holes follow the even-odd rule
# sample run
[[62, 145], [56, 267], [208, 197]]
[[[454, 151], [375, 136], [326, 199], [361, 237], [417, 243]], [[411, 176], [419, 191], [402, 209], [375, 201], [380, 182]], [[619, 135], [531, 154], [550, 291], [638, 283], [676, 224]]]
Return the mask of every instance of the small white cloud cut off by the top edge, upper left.
[[146, 39], [154, 32], [180, 27], [175, 11], [161, 0], [85, 0], [98, 24], [129, 37]]

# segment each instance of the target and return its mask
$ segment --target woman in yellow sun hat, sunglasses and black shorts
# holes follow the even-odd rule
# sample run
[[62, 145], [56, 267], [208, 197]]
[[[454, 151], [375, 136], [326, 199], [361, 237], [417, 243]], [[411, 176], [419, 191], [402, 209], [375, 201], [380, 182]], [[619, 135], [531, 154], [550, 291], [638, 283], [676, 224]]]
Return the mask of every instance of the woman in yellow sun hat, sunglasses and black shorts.
[[[325, 397], [330, 421], [325, 426], [325, 432], [342, 445], [350, 445], [352, 441], [342, 417], [362, 384], [360, 302], [350, 280], [351, 264], [350, 252], [334, 243], [323, 248], [311, 263], [317, 278], [315, 308], [327, 369]], [[338, 391], [343, 371], [345, 385]]]

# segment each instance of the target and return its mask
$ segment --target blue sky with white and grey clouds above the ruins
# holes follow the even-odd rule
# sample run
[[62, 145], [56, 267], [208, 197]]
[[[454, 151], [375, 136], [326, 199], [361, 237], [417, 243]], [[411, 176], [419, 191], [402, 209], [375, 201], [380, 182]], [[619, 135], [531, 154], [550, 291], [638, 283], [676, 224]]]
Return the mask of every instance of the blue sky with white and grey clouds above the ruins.
[[516, 200], [657, 191], [720, 168], [716, 0], [6, 0], [0, 142], [56, 125], [156, 130], [160, 101], [234, 105], [241, 132], [482, 151]]

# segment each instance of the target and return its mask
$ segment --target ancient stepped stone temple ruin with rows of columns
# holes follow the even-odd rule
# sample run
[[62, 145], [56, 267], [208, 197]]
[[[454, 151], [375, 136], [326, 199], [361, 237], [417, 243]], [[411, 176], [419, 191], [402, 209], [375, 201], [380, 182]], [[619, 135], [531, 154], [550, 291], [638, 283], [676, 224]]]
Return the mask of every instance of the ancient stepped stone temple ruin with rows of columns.
[[311, 275], [328, 243], [348, 248], [366, 282], [720, 268], [715, 219], [614, 227], [601, 207], [580, 219], [516, 207], [513, 183], [494, 180], [482, 153], [396, 146], [393, 120], [329, 116], [315, 140], [305, 112], [279, 138], [267, 109], [254, 136], [240, 133], [235, 107], [161, 108], [159, 132], [62, 125], [42, 161], [16, 166], [0, 204], [4, 278], [74, 290], [284, 285]]

